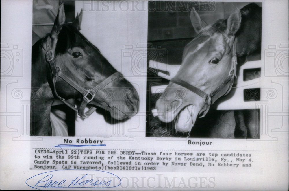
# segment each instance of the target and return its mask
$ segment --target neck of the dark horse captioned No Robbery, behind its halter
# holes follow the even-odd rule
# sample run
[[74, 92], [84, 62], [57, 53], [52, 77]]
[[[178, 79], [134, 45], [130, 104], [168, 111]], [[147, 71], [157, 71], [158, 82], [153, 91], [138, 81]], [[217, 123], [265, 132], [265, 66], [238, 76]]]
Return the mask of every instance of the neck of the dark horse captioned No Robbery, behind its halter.
[[[31, 126], [34, 135], [51, 135], [50, 110], [54, 96], [49, 85], [51, 71], [45, 60], [45, 46], [38, 41], [32, 47]], [[41, 95], [41, 96], [34, 96]]]

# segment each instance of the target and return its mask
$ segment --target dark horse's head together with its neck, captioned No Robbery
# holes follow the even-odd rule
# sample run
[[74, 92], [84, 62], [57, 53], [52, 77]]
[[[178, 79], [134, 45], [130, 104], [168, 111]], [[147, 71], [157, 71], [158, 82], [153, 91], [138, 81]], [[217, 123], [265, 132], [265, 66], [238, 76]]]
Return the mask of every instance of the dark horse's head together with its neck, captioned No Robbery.
[[[79, 32], [81, 18], [82, 12], [66, 24], [61, 4], [51, 33], [32, 47], [31, 135], [51, 135], [49, 115], [55, 99], [81, 117], [88, 117], [95, 106], [118, 120], [138, 112], [136, 89]], [[71, 98], [81, 102], [78, 109], [66, 101]], [[90, 109], [84, 112], [86, 106]]]

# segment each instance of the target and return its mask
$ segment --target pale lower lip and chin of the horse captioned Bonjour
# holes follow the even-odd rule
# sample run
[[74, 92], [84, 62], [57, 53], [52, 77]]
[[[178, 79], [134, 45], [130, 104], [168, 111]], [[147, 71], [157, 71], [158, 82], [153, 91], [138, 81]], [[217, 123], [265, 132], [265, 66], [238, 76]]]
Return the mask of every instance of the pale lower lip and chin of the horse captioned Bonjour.
[[184, 107], [175, 119], [175, 129], [177, 132], [189, 132], [193, 128], [199, 109], [195, 105], [188, 105]]

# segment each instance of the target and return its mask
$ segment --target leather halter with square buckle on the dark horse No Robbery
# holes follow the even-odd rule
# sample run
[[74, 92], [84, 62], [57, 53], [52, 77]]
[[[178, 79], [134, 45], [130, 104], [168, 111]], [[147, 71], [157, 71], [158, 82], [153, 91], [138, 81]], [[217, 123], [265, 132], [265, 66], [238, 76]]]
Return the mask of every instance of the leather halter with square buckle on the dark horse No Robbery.
[[[100, 82], [98, 85], [96, 85], [94, 88], [85, 89], [85, 88], [81, 87], [73, 79], [71, 79], [69, 76], [64, 74], [61, 71], [60, 67], [56, 65], [55, 59], [54, 59], [54, 51], [53, 51], [53, 50], [55, 50], [55, 48], [53, 49], [53, 47], [51, 47], [51, 37], [49, 35], [47, 36], [47, 40], [46, 40], [46, 49], [47, 49], [47, 52], [45, 54], [45, 57], [46, 57], [46, 61], [49, 63], [49, 67], [51, 69], [54, 93], [64, 104], [66, 104], [68, 107], [70, 107], [74, 111], [77, 111], [77, 113], [80, 115], [80, 117], [83, 117], [83, 118], [89, 117], [89, 115], [91, 115], [96, 110], [96, 108], [91, 106], [88, 109], [88, 111], [86, 111], [85, 113], [84, 113], [84, 109], [86, 108], [87, 104], [89, 104], [93, 100], [95, 94], [99, 90], [101, 90], [103, 87], [108, 85], [110, 82], [112, 82], [116, 78], [122, 76], [122, 74], [120, 72], [115, 72], [114, 74], [112, 74], [111, 76], [109, 76], [108, 78], [106, 78], [105, 80]], [[74, 105], [70, 104], [67, 100], [65, 100], [64, 98], [62, 98], [58, 95], [58, 93], [56, 91], [56, 87], [55, 87], [55, 83], [56, 83], [58, 77], [62, 78], [62, 80], [67, 82], [75, 90], [77, 90], [79, 93], [82, 94], [82, 96], [83, 96], [82, 102], [81, 102], [78, 109]]]

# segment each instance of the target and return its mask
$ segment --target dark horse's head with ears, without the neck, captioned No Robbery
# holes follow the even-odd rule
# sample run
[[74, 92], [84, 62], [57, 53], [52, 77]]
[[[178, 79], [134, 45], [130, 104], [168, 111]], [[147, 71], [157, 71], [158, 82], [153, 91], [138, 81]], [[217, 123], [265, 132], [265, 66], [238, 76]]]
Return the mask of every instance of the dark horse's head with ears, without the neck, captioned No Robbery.
[[[52, 31], [44, 39], [51, 70], [48, 82], [54, 98], [78, 111], [81, 117], [88, 117], [95, 106], [109, 111], [118, 120], [136, 115], [139, 108], [136, 89], [79, 32], [81, 19], [82, 10], [75, 21], [65, 23], [61, 4]], [[81, 102], [79, 109], [66, 101], [70, 98]], [[91, 108], [85, 113], [87, 105]]]

